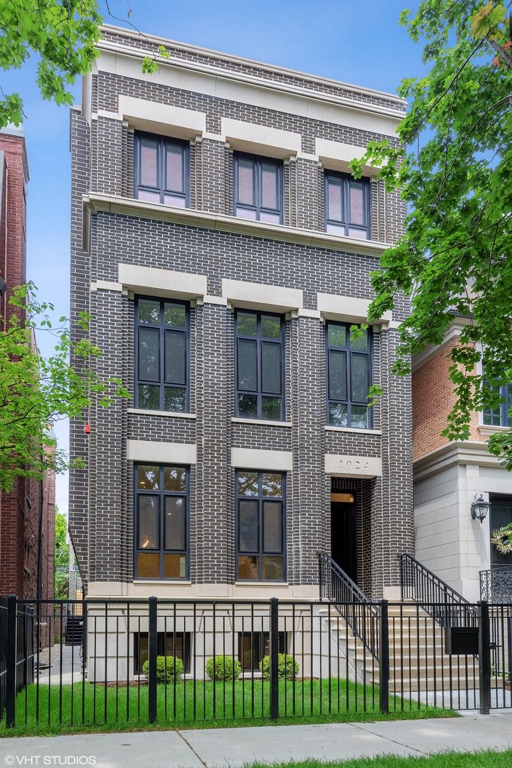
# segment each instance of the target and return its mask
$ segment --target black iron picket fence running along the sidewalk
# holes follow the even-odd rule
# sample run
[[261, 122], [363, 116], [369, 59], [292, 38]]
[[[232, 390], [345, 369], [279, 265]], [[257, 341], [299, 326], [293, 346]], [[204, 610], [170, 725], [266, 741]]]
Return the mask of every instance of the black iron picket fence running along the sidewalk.
[[511, 706], [510, 605], [454, 621], [426, 602], [7, 603], [4, 723], [21, 730]]

